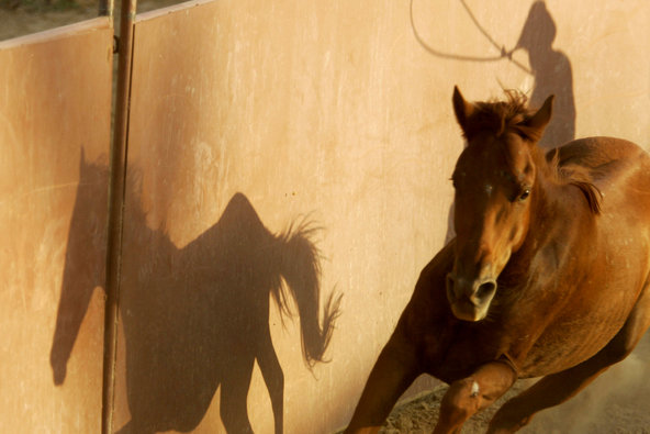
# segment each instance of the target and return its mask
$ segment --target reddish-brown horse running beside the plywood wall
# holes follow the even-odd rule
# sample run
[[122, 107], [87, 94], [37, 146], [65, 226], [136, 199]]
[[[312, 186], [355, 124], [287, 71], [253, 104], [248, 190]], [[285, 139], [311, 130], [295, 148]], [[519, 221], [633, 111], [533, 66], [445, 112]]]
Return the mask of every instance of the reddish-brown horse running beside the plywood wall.
[[490, 433], [511, 433], [623, 360], [650, 325], [650, 158], [593, 137], [546, 156], [538, 111], [502, 102], [453, 109], [468, 146], [453, 171], [457, 237], [424, 268], [347, 433], [377, 432], [421, 374], [450, 387], [435, 433], [458, 433], [517, 378]]

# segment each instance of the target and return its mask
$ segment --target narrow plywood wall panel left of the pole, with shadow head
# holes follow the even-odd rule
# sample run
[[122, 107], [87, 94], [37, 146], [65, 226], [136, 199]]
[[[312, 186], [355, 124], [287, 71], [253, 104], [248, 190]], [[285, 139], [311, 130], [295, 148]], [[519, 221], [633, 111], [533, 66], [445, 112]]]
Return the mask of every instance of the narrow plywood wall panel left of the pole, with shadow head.
[[0, 65], [0, 432], [99, 432], [111, 25], [2, 43]]

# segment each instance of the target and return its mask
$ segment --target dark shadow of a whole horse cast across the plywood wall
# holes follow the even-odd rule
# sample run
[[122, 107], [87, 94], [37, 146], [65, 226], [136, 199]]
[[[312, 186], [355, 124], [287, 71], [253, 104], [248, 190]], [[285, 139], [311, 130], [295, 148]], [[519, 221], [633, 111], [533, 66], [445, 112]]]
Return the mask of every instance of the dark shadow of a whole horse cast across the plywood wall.
[[[56, 385], [66, 378], [92, 290], [104, 285], [108, 176], [105, 165], [81, 155], [51, 353]], [[323, 360], [340, 302], [332, 293], [320, 318], [314, 229], [303, 222], [274, 235], [236, 193], [217, 223], [177, 248], [162, 231], [147, 227], [145, 213], [132, 205], [139, 204], [139, 183], [127, 182], [132, 200], [124, 216], [120, 319], [132, 419], [120, 433], [191, 431], [220, 385], [227, 432], [253, 432], [246, 400], [256, 360], [281, 433], [284, 379], [271, 342], [269, 294], [283, 315], [291, 315], [288, 299], [295, 301], [310, 368]]]

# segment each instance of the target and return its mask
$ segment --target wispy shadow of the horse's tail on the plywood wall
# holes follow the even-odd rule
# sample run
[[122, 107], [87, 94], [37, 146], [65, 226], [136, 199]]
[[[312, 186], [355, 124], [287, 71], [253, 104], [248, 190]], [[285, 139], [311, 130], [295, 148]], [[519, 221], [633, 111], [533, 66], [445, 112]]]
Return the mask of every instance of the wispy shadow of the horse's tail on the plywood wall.
[[277, 237], [279, 242], [280, 274], [285, 286], [272, 290], [273, 299], [284, 314], [289, 314], [285, 291], [298, 304], [301, 325], [302, 350], [310, 368], [317, 361], [325, 361], [324, 354], [339, 315], [341, 294], [333, 291], [327, 298], [320, 319], [321, 256], [310, 237], [317, 231], [310, 222], [291, 225]]

